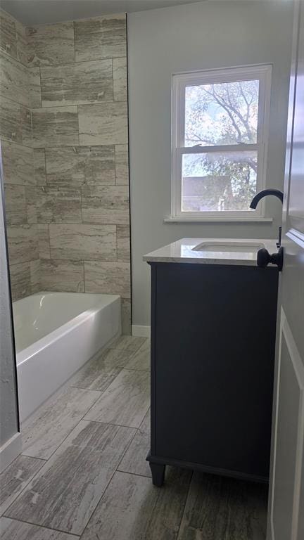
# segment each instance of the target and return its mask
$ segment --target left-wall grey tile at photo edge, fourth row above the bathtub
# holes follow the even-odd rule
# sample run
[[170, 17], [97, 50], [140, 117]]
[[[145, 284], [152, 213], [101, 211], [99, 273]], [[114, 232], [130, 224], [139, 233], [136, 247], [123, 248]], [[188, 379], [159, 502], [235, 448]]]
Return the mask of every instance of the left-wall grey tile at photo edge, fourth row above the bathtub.
[[1, 141], [5, 184], [34, 185], [32, 148]]

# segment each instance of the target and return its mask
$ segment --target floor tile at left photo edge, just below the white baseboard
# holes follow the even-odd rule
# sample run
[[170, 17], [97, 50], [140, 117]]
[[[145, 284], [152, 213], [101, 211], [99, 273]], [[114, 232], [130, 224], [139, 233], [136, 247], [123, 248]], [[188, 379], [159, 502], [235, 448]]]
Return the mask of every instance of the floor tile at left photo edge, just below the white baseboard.
[[42, 459], [18, 456], [6, 467], [0, 475], [0, 515], [11, 506], [44, 463]]

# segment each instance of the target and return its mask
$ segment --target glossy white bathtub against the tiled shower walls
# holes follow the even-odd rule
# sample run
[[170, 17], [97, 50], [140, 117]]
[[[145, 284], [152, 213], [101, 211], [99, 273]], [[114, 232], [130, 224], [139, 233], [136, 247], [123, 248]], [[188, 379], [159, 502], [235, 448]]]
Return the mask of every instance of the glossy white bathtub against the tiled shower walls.
[[20, 420], [121, 333], [120, 297], [39, 293], [13, 302]]

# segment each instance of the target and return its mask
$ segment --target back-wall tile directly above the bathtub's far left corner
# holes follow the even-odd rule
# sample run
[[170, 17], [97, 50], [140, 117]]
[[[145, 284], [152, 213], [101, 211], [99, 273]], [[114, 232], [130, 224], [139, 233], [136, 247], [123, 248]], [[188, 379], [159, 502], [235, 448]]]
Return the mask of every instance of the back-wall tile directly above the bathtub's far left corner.
[[41, 259], [40, 285], [42, 290], [84, 293], [83, 262]]

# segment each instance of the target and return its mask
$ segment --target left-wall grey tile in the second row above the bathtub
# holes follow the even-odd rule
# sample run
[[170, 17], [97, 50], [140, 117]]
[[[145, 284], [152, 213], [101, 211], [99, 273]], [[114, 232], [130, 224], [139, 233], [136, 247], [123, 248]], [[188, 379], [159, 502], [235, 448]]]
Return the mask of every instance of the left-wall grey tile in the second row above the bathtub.
[[11, 262], [38, 259], [37, 225], [11, 225], [7, 228]]

